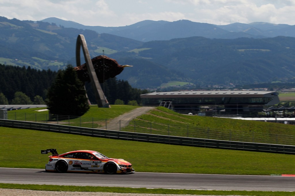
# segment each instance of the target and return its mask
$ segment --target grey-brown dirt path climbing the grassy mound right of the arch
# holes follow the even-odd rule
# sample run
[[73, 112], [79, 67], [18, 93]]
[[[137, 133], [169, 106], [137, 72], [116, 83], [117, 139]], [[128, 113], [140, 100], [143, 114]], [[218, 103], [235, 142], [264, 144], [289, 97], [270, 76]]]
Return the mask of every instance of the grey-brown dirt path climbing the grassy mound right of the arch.
[[130, 112], [122, 114], [106, 124], [106, 129], [119, 131], [120, 128], [126, 127], [132, 119], [135, 119], [136, 117], [145, 114], [146, 112], [155, 108], [156, 107], [139, 107]]

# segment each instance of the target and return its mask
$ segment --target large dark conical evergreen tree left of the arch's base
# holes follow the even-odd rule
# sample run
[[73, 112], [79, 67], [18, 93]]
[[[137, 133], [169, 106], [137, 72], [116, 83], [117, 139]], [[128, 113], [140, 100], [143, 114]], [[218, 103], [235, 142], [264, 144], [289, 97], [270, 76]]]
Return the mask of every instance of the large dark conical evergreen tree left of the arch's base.
[[82, 116], [89, 110], [84, 84], [71, 65], [58, 75], [48, 90], [47, 109], [51, 114]]

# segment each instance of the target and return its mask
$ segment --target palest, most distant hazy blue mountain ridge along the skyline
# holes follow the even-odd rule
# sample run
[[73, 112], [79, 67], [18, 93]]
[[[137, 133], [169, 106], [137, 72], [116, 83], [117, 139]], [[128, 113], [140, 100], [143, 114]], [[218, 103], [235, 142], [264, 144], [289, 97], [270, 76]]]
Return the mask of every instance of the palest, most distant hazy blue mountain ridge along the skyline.
[[295, 25], [271, 24], [266, 22], [214, 25], [192, 22], [189, 20], [179, 20], [174, 22], [145, 20], [128, 26], [104, 27], [85, 26], [73, 21], [65, 21], [54, 17], [42, 21], [54, 23], [57, 26], [63, 26], [66, 28], [90, 29], [99, 34], [108, 33], [138, 41], [170, 40], [192, 36], [222, 39], [235, 39], [239, 37], [295, 37]]

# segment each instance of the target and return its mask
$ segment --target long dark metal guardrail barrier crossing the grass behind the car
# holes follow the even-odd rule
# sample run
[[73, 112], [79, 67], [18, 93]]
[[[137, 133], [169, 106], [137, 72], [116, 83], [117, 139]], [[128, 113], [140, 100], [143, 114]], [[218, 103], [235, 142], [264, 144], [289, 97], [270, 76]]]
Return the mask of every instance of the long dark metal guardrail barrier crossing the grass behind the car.
[[0, 126], [23, 129], [34, 129], [50, 132], [88, 135], [92, 137], [104, 137], [112, 139], [124, 139], [142, 142], [156, 142], [163, 144], [176, 144], [194, 147], [220, 148], [231, 150], [247, 150], [256, 152], [272, 152], [281, 154], [295, 154], [295, 146], [278, 144], [261, 144], [250, 142], [234, 142], [214, 139], [199, 139], [191, 137], [176, 137], [166, 135], [154, 135], [145, 133], [112, 131], [104, 129], [92, 129], [85, 127], [72, 127], [67, 125], [48, 124], [39, 122], [26, 122], [0, 119]]

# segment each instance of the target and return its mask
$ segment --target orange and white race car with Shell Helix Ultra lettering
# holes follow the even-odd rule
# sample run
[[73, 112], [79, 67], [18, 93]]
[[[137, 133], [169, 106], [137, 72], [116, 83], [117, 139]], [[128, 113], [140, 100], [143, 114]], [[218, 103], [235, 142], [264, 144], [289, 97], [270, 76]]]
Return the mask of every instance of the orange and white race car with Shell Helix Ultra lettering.
[[46, 172], [87, 172], [106, 174], [130, 174], [135, 170], [123, 159], [113, 159], [93, 150], [75, 150], [58, 155], [56, 149], [41, 150], [52, 153], [45, 165]]

